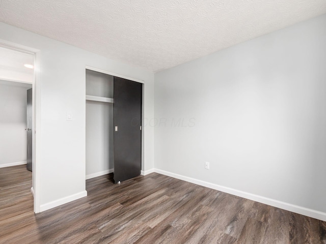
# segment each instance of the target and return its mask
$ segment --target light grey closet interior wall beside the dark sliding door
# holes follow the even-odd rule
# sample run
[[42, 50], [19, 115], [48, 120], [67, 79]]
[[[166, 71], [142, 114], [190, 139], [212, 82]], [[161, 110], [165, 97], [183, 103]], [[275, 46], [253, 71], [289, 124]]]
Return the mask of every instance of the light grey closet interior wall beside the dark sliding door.
[[[113, 172], [113, 85], [113, 76], [86, 70], [86, 179]], [[112, 102], [88, 100], [102, 98]]]

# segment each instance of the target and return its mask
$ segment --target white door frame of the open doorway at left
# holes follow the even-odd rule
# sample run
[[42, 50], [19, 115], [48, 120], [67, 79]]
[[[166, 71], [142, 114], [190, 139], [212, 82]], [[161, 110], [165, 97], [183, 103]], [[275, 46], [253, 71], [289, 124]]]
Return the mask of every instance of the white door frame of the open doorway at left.
[[39, 140], [39, 134], [36, 134], [36, 131], [40, 129], [40, 90], [39, 90], [39, 85], [37, 82], [37, 77], [38, 77], [38, 52], [40, 50], [28, 47], [28, 46], [23, 46], [17, 43], [9, 42], [6, 40], [0, 39], [0, 47], [3, 48], [8, 48], [12, 49], [15, 51], [23, 52], [23, 53], [28, 53], [34, 56], [34, 79], [33, 82], [24, 82], [24, 81], [19, 81], [19, 80], [9, 80], [13, 82], [20, 82], [20, 83], [28, 83], [32, 84], [32, 146], [33, 146], [33, 156], [32, 156], [32, 188], [31, 188], [31, 193], [34, 196], [34, 212], [40, 212], [40, 205], [41, 205], [41, 191], [40, 191], [40, 166], [37, 164], [38, 159], [39, 159], [39, 151], [37, 150], [38, 145], [40, 145], [40, 140]]

